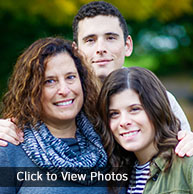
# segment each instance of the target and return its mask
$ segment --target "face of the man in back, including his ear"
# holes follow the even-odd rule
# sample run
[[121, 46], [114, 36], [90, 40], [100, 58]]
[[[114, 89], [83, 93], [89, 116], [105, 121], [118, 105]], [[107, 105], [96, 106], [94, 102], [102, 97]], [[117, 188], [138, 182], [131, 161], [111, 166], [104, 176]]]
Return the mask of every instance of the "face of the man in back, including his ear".
[[78, 50], [101, 80], [121, 68], [125, 56], [130, 56], [131, 37], [124, 41], [119, 19], [114, 16], [85, 18], [78, 24]]

